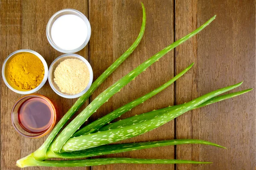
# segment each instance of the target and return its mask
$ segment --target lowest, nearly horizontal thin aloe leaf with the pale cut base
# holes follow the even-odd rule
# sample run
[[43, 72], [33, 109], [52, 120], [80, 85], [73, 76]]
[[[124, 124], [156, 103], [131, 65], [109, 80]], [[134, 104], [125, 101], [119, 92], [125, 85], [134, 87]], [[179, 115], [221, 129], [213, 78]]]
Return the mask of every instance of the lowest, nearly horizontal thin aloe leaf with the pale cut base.
[[29, 158], [26, 161], [17, 162], [18, 167], [87, 167], [106, 164], [210, 164], [212, 162], [189, 161], [180, 159], [134, 159], [134, 158], [98, 158], [84, 160], [45, 160], [37, 161]]

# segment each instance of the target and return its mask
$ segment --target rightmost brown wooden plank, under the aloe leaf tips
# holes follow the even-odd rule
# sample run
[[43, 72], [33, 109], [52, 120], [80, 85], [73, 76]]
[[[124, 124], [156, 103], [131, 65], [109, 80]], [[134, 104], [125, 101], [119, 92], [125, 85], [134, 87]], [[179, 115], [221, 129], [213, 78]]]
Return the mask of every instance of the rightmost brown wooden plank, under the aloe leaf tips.
[[[195, 62], [177, 81], [176, 104], [244, 80], [234, 91], [255, 88], [255, 0], [175, 1], [175, 38], [183, 37], [214, 14], [204, 31], [176, 48], [176, 72]], [[255, 91], [178, 117], [177, 139], [203, 139], [228, 150], [177, 146], [177, 159], [213, 164], [178, 164], [177, 170], [253, 170], [256, 164]]]

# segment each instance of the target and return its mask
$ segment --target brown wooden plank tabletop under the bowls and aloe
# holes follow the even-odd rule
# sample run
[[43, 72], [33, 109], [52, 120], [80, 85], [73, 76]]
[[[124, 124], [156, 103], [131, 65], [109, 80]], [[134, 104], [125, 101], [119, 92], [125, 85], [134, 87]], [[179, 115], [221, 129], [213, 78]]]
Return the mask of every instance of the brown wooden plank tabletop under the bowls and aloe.
[[[214, 14], [213, 21], [200, 34], [172, 50], [148, 68], [135, 81], [113, 96], [94, 114], [90, 122], [152, 91], [190, 63], [193, 68], [169, 88], [132, 109], [121, 118], [169, 105], [181, 104], [212, 90], [244, 80], [236, 91], [255, 88], [255, 0], [145, 0], [145, 34], [133, 54], [91, 96], [84, 107], [113, 82], [166, 45], [201, 26]], [[18, 49], [32, 49], [48, 65], [61, 55], [46, 37], [46, 25], [56, 11], [74, 8], [90, 20], [90, 43], [77, 54], [93, 68], [94, 79], [117, 59], [136, 39], [142, 21], [140, 0], [1, 0], [0, 59]], [[16, 170], [16, 160], [35, 151], [46, 137], [28, 139], [12, 127], [10, 111], [21, 97], [10, 91], [1, 79], [1, 168]], [[38, 91], [55, 104], [58, 120], [76, 99], [55, 94], [47, 82]], [[256, 164], [255, 90], [242, 96], [189, 111], [177, 119], [124, 142], [163, 139], [203, 139], [228, 149], [205, 145], [179, 145], [131, 151], [102, 157], [192, 159], [213, 164], [143, 165], [113, 164], [98, 167], [48, 168], [28, 170], [253, 170]], [[84, 108], [83, 107], [83, 108]], [[83, 109], [81, 108], [81, 109]], [[81, 111], [80, 109], [80, 111]]]

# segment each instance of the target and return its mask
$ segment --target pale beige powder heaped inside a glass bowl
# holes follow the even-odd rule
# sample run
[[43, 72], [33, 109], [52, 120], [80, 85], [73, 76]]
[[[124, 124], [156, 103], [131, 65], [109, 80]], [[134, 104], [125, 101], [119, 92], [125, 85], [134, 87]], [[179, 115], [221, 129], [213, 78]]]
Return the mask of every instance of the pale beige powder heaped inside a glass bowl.
[[61, 92], [79, 94], [88, 85], [90, 73], [87, 65], [79, 59], [65, 59], [54, 71], [54, 82]]

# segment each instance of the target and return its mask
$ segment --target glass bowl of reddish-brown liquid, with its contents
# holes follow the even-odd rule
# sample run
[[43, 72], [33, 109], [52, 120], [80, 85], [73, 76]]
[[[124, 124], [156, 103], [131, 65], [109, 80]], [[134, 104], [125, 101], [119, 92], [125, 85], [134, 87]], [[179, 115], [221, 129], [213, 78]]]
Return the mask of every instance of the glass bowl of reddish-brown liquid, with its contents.
[[15, 130], [28, 138], [46, 135], [56, 122], [54, 105], [41, 94], [29, 94], [18, 99], [11, 116]]

